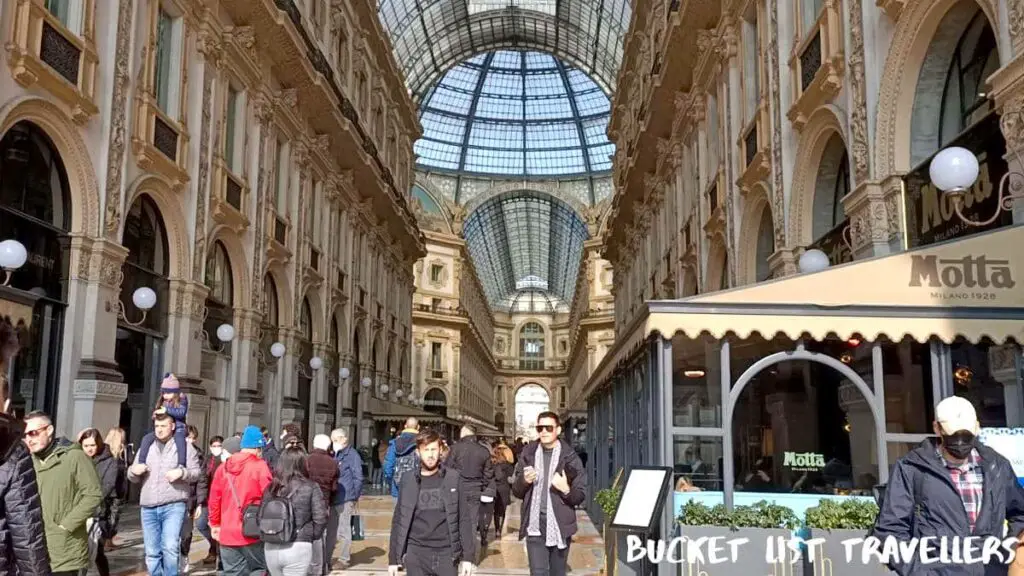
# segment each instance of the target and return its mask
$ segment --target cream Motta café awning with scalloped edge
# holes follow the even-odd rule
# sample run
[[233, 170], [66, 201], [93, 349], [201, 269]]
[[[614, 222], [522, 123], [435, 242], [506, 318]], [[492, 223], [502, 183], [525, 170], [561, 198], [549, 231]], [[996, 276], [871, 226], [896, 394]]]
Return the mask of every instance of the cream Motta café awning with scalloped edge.
[[653, 333], [1024, 342], [1024, 225], [681, 300], [645, 313], [601, 361], [603, 381]]

